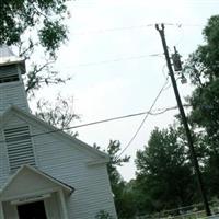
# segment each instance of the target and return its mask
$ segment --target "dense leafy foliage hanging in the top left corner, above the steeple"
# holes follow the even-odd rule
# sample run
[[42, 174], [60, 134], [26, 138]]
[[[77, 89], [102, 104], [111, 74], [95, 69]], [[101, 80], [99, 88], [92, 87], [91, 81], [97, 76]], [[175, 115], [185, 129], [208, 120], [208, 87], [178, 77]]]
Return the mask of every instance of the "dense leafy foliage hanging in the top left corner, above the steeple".
[[7, 0], [1, 1], [0, 44], [16, 45], [22, 36], [37, 30], [38, 43], [55, 55], [67, 38], [62, 24], [67, 13], [66, 0]]

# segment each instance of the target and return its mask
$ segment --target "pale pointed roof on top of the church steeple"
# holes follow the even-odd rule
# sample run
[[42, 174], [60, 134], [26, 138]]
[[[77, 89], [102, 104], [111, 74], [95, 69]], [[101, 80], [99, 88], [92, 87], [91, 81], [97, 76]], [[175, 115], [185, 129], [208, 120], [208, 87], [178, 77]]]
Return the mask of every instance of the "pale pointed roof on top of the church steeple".
[[15, 56], [7, 45], [0, 45], [0, 66], [10, 65], [14, 62], [22, 62], [23, 59]]

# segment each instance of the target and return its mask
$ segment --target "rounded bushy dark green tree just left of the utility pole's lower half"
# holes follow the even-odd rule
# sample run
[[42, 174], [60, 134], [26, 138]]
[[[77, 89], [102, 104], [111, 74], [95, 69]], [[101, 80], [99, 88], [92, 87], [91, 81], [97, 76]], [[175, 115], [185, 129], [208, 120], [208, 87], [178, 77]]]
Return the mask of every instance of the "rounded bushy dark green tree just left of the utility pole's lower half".
[[189, 205], [194, 197], [193, 172], [187, 149], [174, 127], [150, 136], [148, 146], [137, 151], [139, 211], [161, 211]]

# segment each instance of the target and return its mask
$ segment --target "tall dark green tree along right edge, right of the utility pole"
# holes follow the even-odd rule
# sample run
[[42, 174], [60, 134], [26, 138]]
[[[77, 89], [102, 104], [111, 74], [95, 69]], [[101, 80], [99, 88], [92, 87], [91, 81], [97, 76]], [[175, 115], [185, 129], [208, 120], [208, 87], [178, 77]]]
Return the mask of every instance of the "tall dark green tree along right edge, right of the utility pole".
[[185, 67], [195, 87], [189, 120], [205, 139], [208, 192], [219, 196], [219, 15], [208, 20], [203, 35], [205, 44], [189, 56]]

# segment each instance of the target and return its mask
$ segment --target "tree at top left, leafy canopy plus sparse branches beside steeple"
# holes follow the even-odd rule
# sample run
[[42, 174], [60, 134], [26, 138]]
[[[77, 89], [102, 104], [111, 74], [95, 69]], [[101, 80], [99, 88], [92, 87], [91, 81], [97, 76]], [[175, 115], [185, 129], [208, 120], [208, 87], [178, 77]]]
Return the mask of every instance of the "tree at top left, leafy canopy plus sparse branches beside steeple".
[[[51, 70], [56, 51], [67, 39], [67, 0], [7, 0], [1, 1], [0, 45], [15, 46], [19, 55], [30, 60], [36, 48], [44, 53], [44, 62], [31, 61], [26, 91], [42, 84], [60, 83], [66, 79]], [[32, 92], [33, 94], [33, 92]]]

